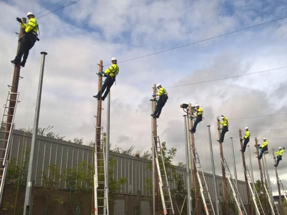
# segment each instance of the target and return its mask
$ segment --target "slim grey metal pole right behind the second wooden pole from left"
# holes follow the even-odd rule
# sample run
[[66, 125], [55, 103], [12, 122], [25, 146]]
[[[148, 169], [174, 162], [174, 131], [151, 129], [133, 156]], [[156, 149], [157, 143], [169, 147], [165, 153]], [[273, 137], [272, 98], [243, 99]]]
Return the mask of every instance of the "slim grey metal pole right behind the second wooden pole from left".
[[[111, 90], [108, 94], [107, 103], [107, 138], [106, 138], [106, 181], [107, 181], [107, 193], [109, 193], [109, 158], [110, 158], [110, 109], [111, 109]], [[105, 193], [106, 195], [106, 193]], [[106, 201], [104, 201], [106, 203]], [[104, 210], [106, 214], [106, 210]]]

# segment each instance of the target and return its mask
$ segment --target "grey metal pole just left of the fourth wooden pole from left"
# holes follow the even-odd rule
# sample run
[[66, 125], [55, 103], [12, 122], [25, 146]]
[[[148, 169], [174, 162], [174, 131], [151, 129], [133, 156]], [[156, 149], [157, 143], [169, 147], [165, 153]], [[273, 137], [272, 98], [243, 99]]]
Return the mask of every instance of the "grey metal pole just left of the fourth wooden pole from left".
[[190, 167], [189, 167], [189, 156], [188, 156], [188, 130], [186, 125], [186, 115], [184, 117], [184, 139], [185, 139], [185, 160], [186, 160], [186, 183], [187, 183], [187, 215], [192, 214], [192, 198], [191, 198], [191, 187], [190, 187]]

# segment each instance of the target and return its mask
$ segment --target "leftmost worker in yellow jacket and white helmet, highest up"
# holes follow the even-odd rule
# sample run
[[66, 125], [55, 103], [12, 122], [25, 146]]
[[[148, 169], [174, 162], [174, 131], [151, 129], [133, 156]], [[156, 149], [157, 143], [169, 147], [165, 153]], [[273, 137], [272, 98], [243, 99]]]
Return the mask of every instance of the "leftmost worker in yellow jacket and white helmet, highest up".
[[[27, 13], [27, 17], [29, 19], [28, 24], [23, 23], [22, 20], [17, 17], [16, 20], [21, 23], [21, 27], [25, 29], [24, 36], [19, 38], [21, 42], [20, 49], [15, 57], [14, 60], [11, 60], [13, 64], [19, 64], [21, 63], [21, 66], [25, 66], [26, 60], [29, 55], [29, 50], [34, 46], [36, 40], [39, 40], [37, 38], [38, 36], [38, 23], [35, 19], [35, 15], [32, 12]], [[23, 56], [23, 60], [21, 62]]]

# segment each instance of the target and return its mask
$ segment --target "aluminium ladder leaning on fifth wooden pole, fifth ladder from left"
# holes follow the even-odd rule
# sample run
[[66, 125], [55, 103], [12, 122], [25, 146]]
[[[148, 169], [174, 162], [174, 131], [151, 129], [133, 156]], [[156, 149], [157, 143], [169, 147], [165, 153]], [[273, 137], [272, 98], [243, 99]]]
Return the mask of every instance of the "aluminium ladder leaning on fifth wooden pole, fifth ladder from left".
[[225, 158], [222, 158], [221, 159], [221, 162], [224, 166], [224, 169], [226, 171], [225, 175], [228, 179], [228, 182], [229, 182], [229, 185], [230, 185], [230, 188], [232, 190], [232, 195], [234, 197], [234, 200], [235, 200], [235, 203], [236, 203], [236, 206], [237, 206], [237, 209], [238, 209], [238, 213], [241, 215], [241, 214], [246, 214], [247, 215], [247, 212], [245, 210], [245, 207], [244, 207], [244, 204], [242, 202], [242, 199], [240, 197], [240, 194], [239, 194], [239, 191], [238, 191], [238, 188], [235, 184], [235, 181], [233, 180], [232, 178], [232, 175], [231, 175], [231, 172], [229, 170], [229, 167], [227, 165], [227, 162], [225, 160]]

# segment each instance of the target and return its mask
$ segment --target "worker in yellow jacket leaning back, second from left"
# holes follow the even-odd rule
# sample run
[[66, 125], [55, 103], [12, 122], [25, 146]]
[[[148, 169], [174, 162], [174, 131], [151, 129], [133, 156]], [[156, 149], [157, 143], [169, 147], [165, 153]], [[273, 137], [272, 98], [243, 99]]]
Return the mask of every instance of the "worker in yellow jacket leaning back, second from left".
[[[112, 61], [112, 64], [104, 72], [104, 76], [107, 77], [107, 78], [106, 78], [101, 90], [98, 92], [97, 95], [94, 96], [94, 98], [96, 98], [98, 100], [101, 99], [101, 98], [102, 98], [103, 101], [105, 100], [105, 98], [107, 97], [107, 95], [110, 92], [110, 89], [111, 89], [112, 85], [116, 81], [116, 76], [119, 73], [119, 67], [118, 67], [118, 64], [117, 64], [117, 59], [115, 57], [113, 57], [111, 59], [111, 61]], [[100, 74], [100, 73], [98, 75], [102, 76], [102, 74]], [[106, 92], [102, 96], [102, 93], [105, 90], [106, 90]]]

